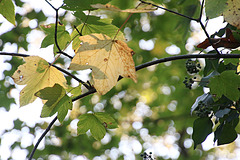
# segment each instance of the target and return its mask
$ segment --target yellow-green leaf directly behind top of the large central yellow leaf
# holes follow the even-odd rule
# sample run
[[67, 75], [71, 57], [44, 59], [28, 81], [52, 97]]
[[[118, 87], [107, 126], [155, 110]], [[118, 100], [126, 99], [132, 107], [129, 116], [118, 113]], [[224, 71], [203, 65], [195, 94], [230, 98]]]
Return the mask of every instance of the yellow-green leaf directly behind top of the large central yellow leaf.
[[[96, 21], [96, 23], [98, 24], [88, 24], [88, 23], [85, 23], [85, 25], [80, 24], [79, 26], [77, 26], [77, 29], [79, 31], [82, 31], [82, 35], [88, 35], [92, 33], [102, 33], [113, 39], [119, 28], [111, 24], [111, 22], [112, 22], [111, 19], [101, 19]], [[72, 44], [73, 50], [76, 50], [79, 48], [79, 45], [81, 43], [79, 37], [80, 35], [78, 34], [78, 32], [76, 30], [73, 30], [71, 34], [71, 38], [73, 39], [73, 44]], [[125, 37], [121, 31], [117, 34], [116, 39], [125, 41]]]

